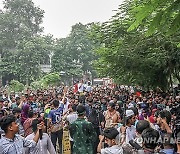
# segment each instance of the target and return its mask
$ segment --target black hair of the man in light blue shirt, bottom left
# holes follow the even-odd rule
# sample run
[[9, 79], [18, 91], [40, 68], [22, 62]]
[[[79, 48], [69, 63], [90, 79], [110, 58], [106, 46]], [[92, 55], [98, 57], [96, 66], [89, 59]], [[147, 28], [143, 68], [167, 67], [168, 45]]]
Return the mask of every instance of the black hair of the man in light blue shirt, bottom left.
[[13, 114], [7, 115], [0, 119], [1, 129], [4, 130], [5, 133], [8, 131], [8, 127], [12, 124], [12, 122], [16, 121], [16, 117]]

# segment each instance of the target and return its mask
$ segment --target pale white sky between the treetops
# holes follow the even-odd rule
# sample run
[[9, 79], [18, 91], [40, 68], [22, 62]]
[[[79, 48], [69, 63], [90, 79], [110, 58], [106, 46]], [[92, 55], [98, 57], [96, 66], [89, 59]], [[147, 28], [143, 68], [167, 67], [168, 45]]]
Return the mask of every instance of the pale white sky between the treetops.
[[[0, 5], [2, 6], [0, 0]], [[32, 0], [45, 11], [44, 33], [56, 38], [67, 37], [71, 26], [81, 22], [104, 22], [109, 20], [123, 0]]]

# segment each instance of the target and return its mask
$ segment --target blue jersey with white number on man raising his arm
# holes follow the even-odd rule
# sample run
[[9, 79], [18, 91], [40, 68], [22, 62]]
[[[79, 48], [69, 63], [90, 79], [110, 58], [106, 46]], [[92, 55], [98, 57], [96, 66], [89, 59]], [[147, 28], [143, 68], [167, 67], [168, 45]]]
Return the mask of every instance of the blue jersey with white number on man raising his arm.
[[62, 120], [64, 104], [61, 104], [58, 109], [51, 110], [48, 118], [52, 120], [53, 124], [59, 123]]

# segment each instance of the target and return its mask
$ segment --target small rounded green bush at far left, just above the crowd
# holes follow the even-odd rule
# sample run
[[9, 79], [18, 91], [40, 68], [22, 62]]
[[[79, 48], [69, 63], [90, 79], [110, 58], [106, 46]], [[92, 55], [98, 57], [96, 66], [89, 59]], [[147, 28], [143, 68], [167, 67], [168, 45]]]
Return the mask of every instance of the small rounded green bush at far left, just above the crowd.
[[9, 88], [14, 92], [22, 92], [24, 90], [24, 85], [17, 80], [11, 80]]

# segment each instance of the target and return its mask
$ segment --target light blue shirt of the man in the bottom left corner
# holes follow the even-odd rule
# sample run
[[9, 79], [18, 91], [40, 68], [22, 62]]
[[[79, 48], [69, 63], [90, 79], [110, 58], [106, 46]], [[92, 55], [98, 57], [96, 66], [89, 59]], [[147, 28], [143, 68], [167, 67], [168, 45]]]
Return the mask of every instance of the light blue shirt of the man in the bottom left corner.
[[35, 147], [36, 142], [27, 140], [20, 135], [15, 135], [14, 139], [8, 139], [4, 136], [0, 139], [0, 153], [1, 154], [23, 154], [24, 147]]

